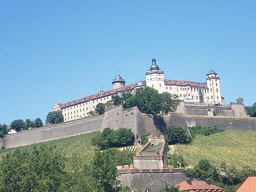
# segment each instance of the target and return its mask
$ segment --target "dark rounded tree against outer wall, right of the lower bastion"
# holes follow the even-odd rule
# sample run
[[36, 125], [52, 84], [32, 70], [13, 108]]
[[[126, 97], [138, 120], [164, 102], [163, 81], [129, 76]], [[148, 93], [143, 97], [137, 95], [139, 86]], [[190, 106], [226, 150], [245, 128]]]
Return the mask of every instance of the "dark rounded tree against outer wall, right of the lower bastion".
[[189, 143], [191, 138], [186, 135], [185, 130], [181, 126], [169, 126], [166, 129], [166, 137], [168, 144], [177, 144], [177, 143]]

